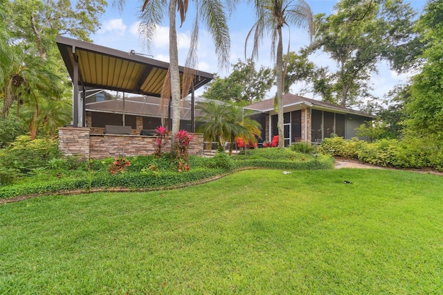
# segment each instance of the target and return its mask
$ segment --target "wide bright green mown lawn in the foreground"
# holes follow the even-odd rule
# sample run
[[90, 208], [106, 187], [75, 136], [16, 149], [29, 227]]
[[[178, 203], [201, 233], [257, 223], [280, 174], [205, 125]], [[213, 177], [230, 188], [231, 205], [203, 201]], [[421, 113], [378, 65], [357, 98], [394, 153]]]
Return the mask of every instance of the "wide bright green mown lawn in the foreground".
[[416, 172], [246, 170], [4, 204], [0, 294], [441, 294], [442, 192]]

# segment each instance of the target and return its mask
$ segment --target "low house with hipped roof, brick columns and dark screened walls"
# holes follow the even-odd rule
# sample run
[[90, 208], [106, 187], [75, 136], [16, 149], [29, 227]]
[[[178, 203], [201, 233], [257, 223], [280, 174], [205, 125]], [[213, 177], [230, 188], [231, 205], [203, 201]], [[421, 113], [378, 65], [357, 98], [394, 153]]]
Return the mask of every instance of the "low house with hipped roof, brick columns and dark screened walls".
[[[299, 141], [319, 144], [331, 134], [350, 139], [356, 128], [372, 121], [374, 116], [361, 111], [332, 105], [311, 98], [284, 94], [284, 145]], [[262, 140], [270, 141], [278, 135], [278, 115], [273, 100], [263, 100], [244, 107], [255, 111], [252, 118], [262, 125]]]

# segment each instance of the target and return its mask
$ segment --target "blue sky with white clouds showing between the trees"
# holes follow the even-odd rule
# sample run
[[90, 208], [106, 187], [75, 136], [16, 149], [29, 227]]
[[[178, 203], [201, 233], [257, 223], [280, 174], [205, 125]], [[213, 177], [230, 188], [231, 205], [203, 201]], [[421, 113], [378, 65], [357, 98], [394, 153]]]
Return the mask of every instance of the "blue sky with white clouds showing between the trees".
[[[165, 24], [159, 28], [156, 33], [156, 39], [154, 44], [151, 45], [151, 50], [147, 51], [147, 46], [143, 42], [143, 36], [138, 34], [138, 12], [141, 8], [141, 0], [126, 0], [123, 11], [118, 11], [117, 8], [111, 6], [112, 0], [108, 0], [109, 7], [104, 15], [100, 18], [102, 24], [100, 30], [91, 36], [95, 44], [111, 47], [120, 51], [129, 52], [134, 50], [137, 53], [143, 53], [147, 55], [153, 55], [156, 60], [163, 60], [169, 62], [169, 36], [168, 36], [168, 19], [165, 19]], [[312, 12], [325, 13], [329, 15], [333, 11], [333, 6], [337, 1], [335, 0], [307, 0], [309, 6], [311, 6]], [[415, 9], [422, 11], [422, 8], [426, 4], [426, 0], [405, 0], [410, 3]], [[190, 42], [190, 24], [194, 19], [192, 13], [188, 13], [188, 19], [182, 28], [177, 28], [178, 43], [179, 43], [179, 64], [185, 63], [186, 54], [188, 53], [188, 47]], [[251, 8], [240, 1], [240, 5], [237, 10], [230, 17], [229, 30], [231, 39], [230, 48], [230, 63], [235, 64], [237, 61], [245, 59], [244, 55], [244, 42], [246, 35], [251, 30], [254, 23], [254, 14]], [[287, 48], [288, 35], [284, 34], [284, 48]], [[306, 30], [291, 28], [291, 51], [298, 51], [302, 46], [309, 44], [309, 36]], [[257, 66], [272, 66], [270, 42], [264, 40], [260, 44], [259, 57], [255, 61]], [[251, 55], [251, 46], [248, 46], [247, 57]], [[334, 66], [334, 62], [329, 60], [326, 55], [316, 53], [312, 55], [311, 60], [319, 66]], [[217, 73], [221, 77], [229, 75], [230, 69], [219, 69], [217, 64], [217, 55], [213, 47], [213, 42], [205, 30], [205, 27], [201, 24], [199, 33], [199, 46], [198, 46], [198, 69], [200, 71], [206, 71], [209, 73]], [[374, 87], [374, 95], [382, 97], [387, 93], [395, 84], [404, 82], [408, 75], [397, 75], [397, 73], [390, 71], [386, 64], [380, 64], [380, 73], [374, 74], [372, 77], [372, 83]], [[199, 95], [203, 89], [197, 91]], [[271, 89], [272, 91], [272, 89]], [[273, 91], [275, 92], [275, 90]], [[291, 87], [292, 93], [298, 92], [298, 87], [295, 85]], [[274, 93], [269, 93], [269, 97]], [[312, 94], [307, 93], [306, 96], [314, 97]]]

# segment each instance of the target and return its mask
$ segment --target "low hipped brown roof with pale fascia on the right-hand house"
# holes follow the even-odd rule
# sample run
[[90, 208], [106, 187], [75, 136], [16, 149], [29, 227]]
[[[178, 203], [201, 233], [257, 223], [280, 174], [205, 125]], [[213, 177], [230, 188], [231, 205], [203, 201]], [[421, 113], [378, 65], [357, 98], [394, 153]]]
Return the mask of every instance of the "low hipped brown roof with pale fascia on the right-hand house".
[[[303, 96], [296, 96], [291, 93], [284, 94], [283, 106], [284, 107], [300, 107], [300, 109], [311, 107], [313, 109], [322, 109], [325, 111], [332, 111], [332, 112], [336, 112], [336, 113], [354, 114], [354, 115], [358, 115], [358, 116], [366, 116], [369, 118], [375, 118], [375, 116], [373, 116], [371, 114], [366, 114], [363, 111], [356, 111], [354, 109], [349, 109], [347, 107], [341, 107], [339, 105], [332, 105], [331, 103], [323, 102], [320, 100], [314, 100], [312, 98], [305, 98]], [[244, 108], [267, 113], [269, 111], [274, 110], [273, 99], [262, 100], [260, 102], [254, 103], [252, 105], [248, 105]]]

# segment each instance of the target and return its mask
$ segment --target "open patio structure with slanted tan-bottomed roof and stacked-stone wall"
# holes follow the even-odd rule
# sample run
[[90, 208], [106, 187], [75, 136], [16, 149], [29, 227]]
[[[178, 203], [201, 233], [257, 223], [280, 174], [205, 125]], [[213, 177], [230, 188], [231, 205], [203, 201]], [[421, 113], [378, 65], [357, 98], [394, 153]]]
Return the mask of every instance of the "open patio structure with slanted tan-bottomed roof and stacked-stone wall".
[[[73, 82], [73, 121], [70, 126], [59, 129], [60, 150], [66, 155], [93, 159], [152, 154], [154, 136], [140, 135], [138, 130], [132, 130], [131, 134], [103, 134], [88, 125], [87, 91], [108, 89], [160, 98], [169, 63], [60, 35], [56, 42]], [[179, 71], [182, 79], [185, 68], [181, 66]], [[213, 74], [195, 70], [187, 93], [191, 106], [189, 132], [195, 132], [195, 90], [212, 79]], [[125, 122], [115, 125], [123, 126]], [[190, 154], [202, 154], [203, 134], [195, 134], [191, 145]]]

